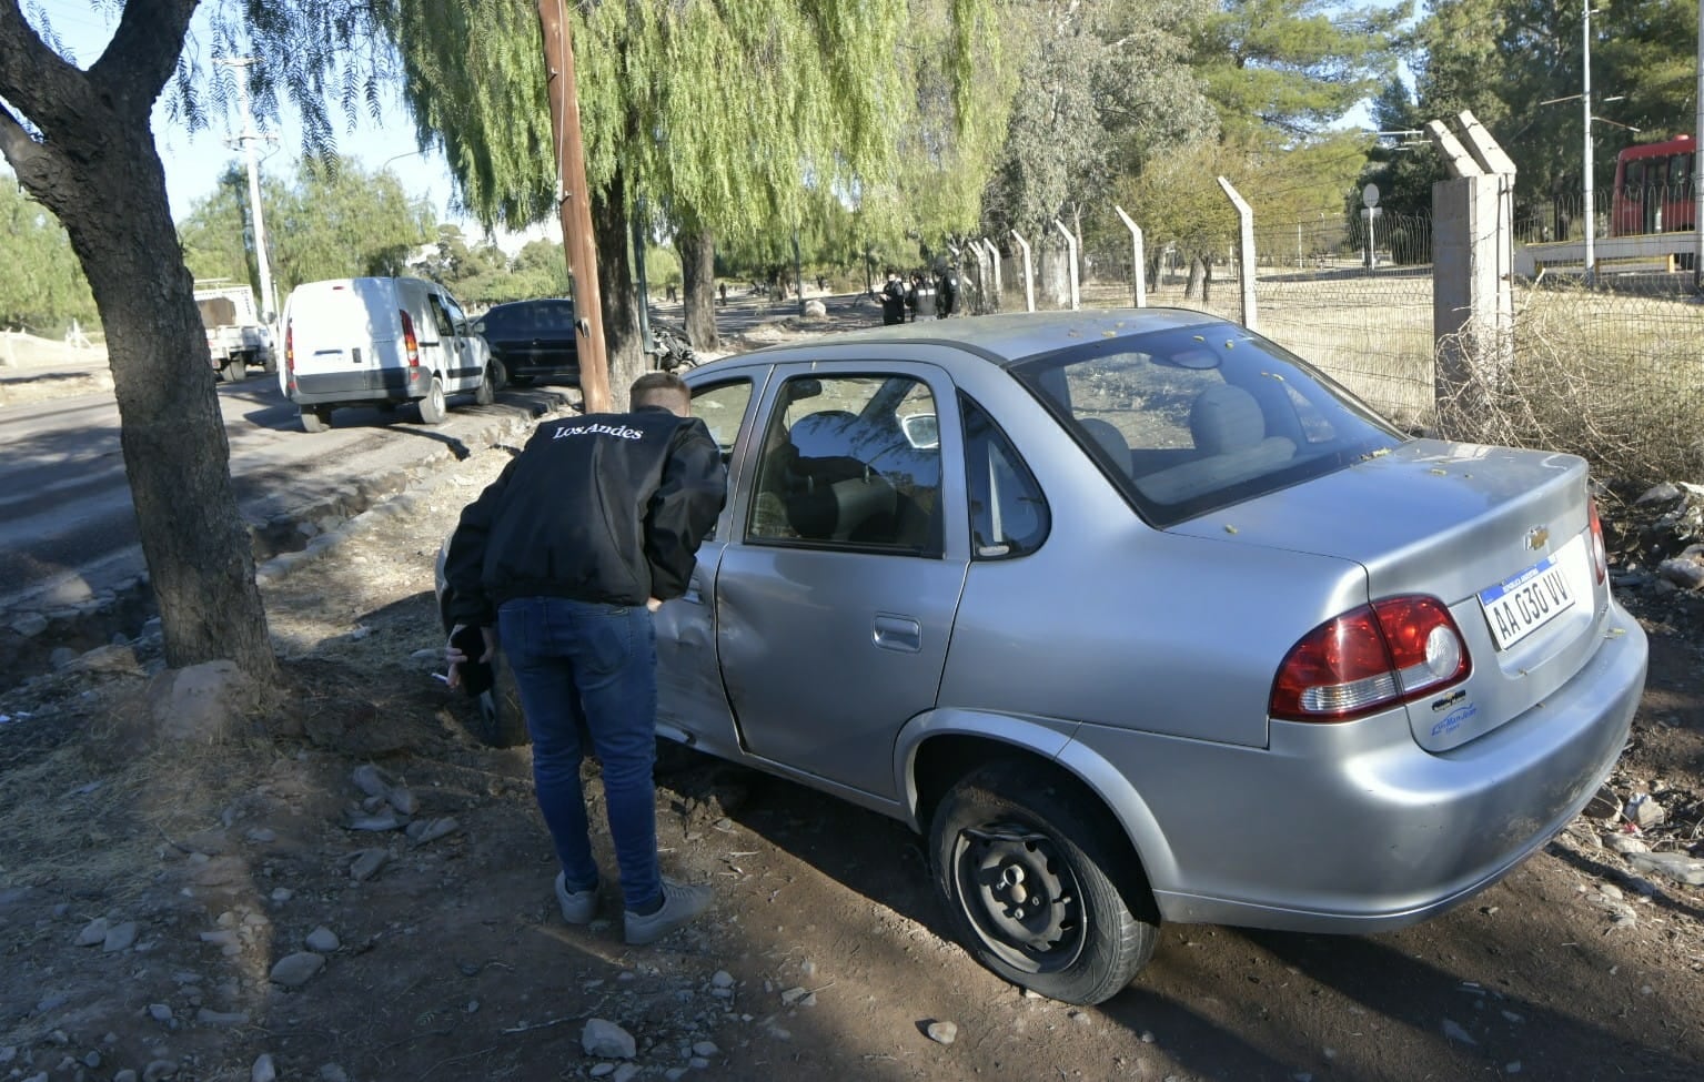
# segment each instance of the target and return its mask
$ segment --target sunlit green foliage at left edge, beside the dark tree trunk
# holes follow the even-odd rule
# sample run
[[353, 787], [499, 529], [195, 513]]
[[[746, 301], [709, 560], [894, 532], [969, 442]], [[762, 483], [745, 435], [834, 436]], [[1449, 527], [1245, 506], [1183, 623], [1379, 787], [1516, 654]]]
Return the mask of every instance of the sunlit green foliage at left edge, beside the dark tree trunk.
[[95, 300], [58, 218], [0, 174], [0, 329], [58, 337], [72, 320], [99, 325]]

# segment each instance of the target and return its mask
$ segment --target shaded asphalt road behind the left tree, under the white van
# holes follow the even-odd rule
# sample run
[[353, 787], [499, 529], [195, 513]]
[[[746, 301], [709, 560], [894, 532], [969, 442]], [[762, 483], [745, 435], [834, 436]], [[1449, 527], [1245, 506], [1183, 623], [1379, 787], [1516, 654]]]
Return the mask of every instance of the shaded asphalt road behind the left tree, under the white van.
[[[450, 417], [419, 423], [412, 406], [341, 409], [327, 433], [302, 431], [278, 383], [256, 371], [220, 383], [237, 503], [250, 523], [324, 503], [363, 479], [457, 458], [489, 443], [494, 423], [561, 404], [567, 388], [511, 388], [487, 407], [450, 399]], [[0, 411], [0, 613], [77, 605], [143, 573], [141, 542], [111, 392]]]

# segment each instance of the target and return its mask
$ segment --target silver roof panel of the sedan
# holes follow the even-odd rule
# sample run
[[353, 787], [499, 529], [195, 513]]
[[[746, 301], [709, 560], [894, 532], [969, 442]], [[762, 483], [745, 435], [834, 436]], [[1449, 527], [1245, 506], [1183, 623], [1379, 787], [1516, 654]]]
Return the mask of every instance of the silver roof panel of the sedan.
[[702, 365], [700, 370], [763, 358], [765, 354], [791, 353], [799, 348], [820, 348], [825, 344], [857, 346], [861, 342], [958, 346], [966, 353], [975, 353], [1004, 368], [1036, 354], [1053, 353], [1055, 349], [1065, 349], [1087, 341], [1147, 334], [1150, 331], [1171, 331], [1177, 327], [1200, 327], [1218, 322], [1223, 320], [1208, 312], [1195, 312], [1191, 308], [1012, 312], [1002, 315], [941, 319], [918, 324], [900, 324], [893, 327], [847, 331], [832, 337], [811, 339], [809, 342], [765, 346], [763, 349]]

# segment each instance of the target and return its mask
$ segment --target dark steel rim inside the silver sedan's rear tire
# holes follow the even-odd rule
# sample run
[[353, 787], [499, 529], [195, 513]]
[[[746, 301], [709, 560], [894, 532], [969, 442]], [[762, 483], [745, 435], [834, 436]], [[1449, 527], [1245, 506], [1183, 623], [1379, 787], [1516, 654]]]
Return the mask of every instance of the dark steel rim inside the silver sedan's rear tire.
[[1082, 884], [1046, 833], [1010, 821], [966, 826], [953, 842], [953, 876], [976, 939], [1005, 964], [1056, 973], [1082, 956]]

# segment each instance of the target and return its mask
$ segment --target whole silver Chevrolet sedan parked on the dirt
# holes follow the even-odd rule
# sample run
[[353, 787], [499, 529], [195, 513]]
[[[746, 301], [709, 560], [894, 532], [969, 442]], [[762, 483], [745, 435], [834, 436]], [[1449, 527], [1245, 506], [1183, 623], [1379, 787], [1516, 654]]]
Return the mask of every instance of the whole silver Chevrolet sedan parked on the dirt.
[[[1162, 920], [1372, 932], [1544, 845], [1646, 641], [1586, 463], [1414, 440], [1159, 308], [685, 375], [729, 465], [658, 733], [927, 835], [985, 966], [1118, 993]], [[1210, 799], [1203, 799], [1210, 797]]]

